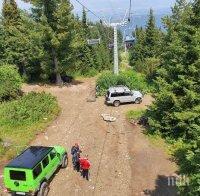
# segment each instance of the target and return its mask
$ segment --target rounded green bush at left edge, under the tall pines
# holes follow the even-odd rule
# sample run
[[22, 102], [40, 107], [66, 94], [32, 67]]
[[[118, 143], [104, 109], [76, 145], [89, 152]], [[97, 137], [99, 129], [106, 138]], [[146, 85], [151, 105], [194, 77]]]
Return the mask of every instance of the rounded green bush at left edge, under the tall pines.
[[0, 101], [19, 96], [22, 79], [15, 66], [0, 65]]

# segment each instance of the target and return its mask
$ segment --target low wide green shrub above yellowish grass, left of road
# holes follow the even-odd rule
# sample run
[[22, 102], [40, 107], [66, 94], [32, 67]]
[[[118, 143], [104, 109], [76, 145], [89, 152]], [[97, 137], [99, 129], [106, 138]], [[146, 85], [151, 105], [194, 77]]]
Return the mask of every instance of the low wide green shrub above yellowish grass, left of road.
[[56, 98], [46, 93], [31, 92], [21, 99], [0, 105], [1, 125], [21, 126], [48, 118], [57, 108]]

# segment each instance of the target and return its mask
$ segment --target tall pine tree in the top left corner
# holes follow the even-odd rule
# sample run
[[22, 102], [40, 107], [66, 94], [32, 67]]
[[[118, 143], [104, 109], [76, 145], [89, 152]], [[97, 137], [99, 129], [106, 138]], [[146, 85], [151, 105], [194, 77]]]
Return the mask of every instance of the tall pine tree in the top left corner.
[[[1, 61], [14, 64], [19, 72], [27, 78], [30, 65], [41, 57], [40, 36], [38, 28], [29, 17], [20, 12], [15, 1], [5, 1], [2, 17], [3, 51]], [[40, 40], [40, 41], [38, 41]], [[37, 45], [38, 44], [38, 45]]]

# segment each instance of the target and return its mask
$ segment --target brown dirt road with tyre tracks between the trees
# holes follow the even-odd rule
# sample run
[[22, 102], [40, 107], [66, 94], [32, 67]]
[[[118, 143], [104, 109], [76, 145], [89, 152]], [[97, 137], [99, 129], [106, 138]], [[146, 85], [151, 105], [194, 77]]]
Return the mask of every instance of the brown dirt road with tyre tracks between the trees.
[[[70, 151], [78, 142], [83, 155], [88, 154], [92, 163], [91, 181], [87, 182], [73, 171], [70, 162], [51, 182], [50, 196], [175, 195], [173, 188], [167, 187], [166, 179], [175, 172], [176, 166], [161, 149], [149, 143], [139, 127], [131, 126], [125, 119], [127, 110], [149, 105], [150, 96], [140, 105], [114, 108], [105, 106], [103, 98], [86, 101], [94, 89], [93, 79], [70, 87], [26, 86], [24, 89], [50, 92], [62, 108], [59, 117], [32, 145], [62, 145]], [[104, 122], [102, 113], [117, 117], [117, 121]]]

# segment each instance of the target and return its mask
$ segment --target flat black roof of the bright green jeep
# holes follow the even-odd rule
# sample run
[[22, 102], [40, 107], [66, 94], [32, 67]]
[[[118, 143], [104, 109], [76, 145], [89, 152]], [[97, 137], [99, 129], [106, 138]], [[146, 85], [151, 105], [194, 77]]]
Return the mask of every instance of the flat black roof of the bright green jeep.
[[6, 167], [12, 168], [34, 168], [51, 150], [53, 147], [30, 146], [15, 159], [13, 159]]

